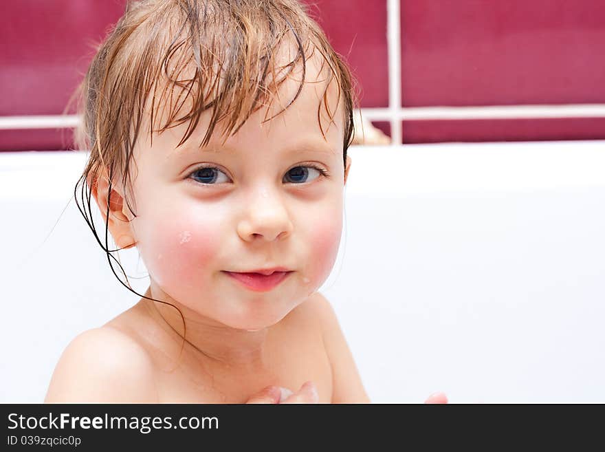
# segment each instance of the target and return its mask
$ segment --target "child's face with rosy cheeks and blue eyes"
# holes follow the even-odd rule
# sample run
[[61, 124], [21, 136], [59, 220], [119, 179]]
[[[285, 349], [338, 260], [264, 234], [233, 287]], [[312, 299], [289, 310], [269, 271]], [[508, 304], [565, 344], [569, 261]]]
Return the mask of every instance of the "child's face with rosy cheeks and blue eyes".
[[[334, 85], [334, 84], [332, 84]], [[221, 143], [220, 130], [200, 148], [204, 114], [177, 148], [186, 126], [135, 148], [133, 210], [127, 224], [151, 277], [153, 297], [182, 305], [205, 321], [255, 330], [273, 325], [327, 279], [342, 232], [343, 112], [334, 123], [318, 105], [325, 83], [305, 83], [283, 113], [262, 124], [253, 114]], [[298, 83], [286, 82], [290, 99]], [[329, 89], [336, 107], [336, 87]], [[281, 110], [270, 107], [269, 118]], [[322, 109], [322, 116], [325, 111]], [[246, 287], [228, 272], [283, 267], [271, 290]]]

